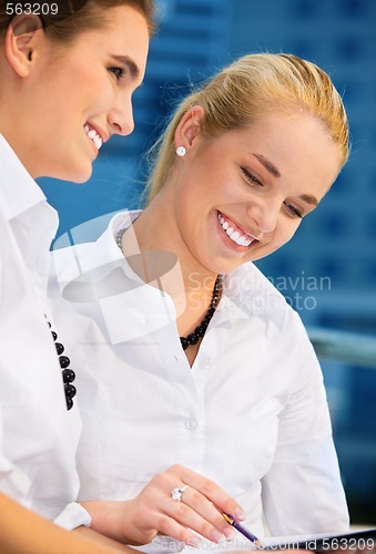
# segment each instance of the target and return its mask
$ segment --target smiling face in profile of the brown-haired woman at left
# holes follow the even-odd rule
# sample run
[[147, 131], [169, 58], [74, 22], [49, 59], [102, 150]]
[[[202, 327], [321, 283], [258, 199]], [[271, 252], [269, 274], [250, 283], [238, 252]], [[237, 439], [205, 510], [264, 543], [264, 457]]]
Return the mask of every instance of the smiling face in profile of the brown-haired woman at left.
[[12, 19], [1, 132], [33, 177], [87, 181], [102, 142], [133, 130], [131, 99], [143, 79], [149, 32], [142, 12], [114, 3], [103, 11], [93, 2], [88, 21], [84, 7], [45, 31], [35, 16]]

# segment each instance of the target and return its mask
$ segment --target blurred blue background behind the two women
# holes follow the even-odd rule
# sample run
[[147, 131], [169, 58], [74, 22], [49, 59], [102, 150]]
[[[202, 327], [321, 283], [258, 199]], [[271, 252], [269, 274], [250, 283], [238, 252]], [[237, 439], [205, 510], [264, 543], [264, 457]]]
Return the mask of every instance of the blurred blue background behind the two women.
[[[376, 1], [159, 0], [159, 7], [160, 30], [134, 95], [133, 135], [102, 147], [89, 184], [40, 179], [61, 214], [59, 234], [139, 206], [143, 153], [192, 84], [244, 53], [295, 53], [325, 69], [343, 93], [353, 150], [315, 215], [258, 265], [308, 329], [376, 342]], [[376, 524], [376, 361], [324, 356], [322, 365], [353, 523]]]

